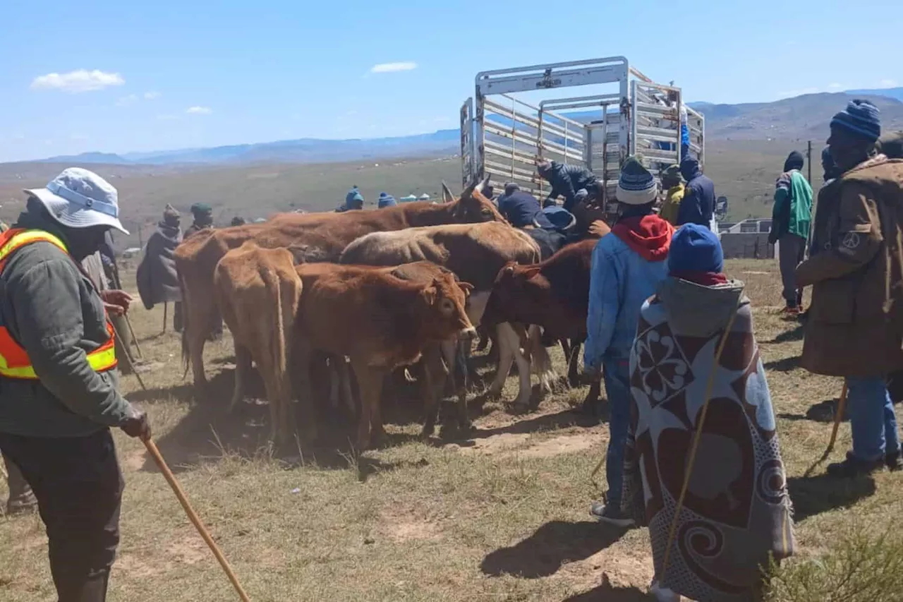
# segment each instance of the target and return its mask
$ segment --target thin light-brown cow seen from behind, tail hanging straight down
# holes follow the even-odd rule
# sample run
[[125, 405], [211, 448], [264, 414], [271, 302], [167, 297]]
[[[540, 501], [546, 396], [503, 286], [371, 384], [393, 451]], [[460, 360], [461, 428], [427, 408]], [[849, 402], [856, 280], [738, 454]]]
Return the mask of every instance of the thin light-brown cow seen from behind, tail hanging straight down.
[[235, 342], [235, 390], [229, 410], [241, 401], [244, 374], [254, 360], [270, 401], [270, 432], [282, 447], [294, 431], [287, 356], [302, 283], [293, 255], [287, 249], [261, 249], [248, 240], [219, 260], [213, 284]]

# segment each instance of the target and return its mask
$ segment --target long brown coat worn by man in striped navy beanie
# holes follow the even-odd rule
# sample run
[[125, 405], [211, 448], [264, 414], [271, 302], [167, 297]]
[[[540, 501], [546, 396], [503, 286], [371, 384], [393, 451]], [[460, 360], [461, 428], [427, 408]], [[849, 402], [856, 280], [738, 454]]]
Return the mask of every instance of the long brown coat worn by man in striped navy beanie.
[[880, 155], [826, 187], [812, 249], [796, 268], [813, 287], [803, 367], [844, 377], [903, 367], [903, 160]]

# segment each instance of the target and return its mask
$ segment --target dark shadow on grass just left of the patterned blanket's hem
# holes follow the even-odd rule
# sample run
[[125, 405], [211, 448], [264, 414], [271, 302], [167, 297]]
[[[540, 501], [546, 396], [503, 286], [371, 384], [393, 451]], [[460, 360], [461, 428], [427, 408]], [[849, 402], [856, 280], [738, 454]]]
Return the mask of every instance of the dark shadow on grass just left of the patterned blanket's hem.
[[490, 552], [479, 569], [492, 577], [548, 577], [565, 562], [584, 560], [605, 550], [626, 532], [600, 522], [546, 522], [517, 545]]

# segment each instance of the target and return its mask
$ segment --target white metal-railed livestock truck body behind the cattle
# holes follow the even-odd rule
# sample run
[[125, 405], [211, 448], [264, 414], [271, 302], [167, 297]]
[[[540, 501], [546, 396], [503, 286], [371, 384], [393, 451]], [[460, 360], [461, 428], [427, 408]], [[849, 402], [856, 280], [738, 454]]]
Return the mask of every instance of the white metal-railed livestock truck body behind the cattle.
[[[603, 92], [558, 96], [580, 86]], [[536, 174], [537, 157], [584, 165], [598, 176], [601, 205], [613, 215], [628, 155], [641, 153], [656, 175], [680, 163], [682, 107], [680, 88], [650, 80], [622, 56], [482, 71], [461, 107], [462, 183], [488, 175], [497, 189], [514, 182], [542, 199], [549, 185]], [[691, 153], [704, 165], [705, 120], [693, 108], [686, 114]]]

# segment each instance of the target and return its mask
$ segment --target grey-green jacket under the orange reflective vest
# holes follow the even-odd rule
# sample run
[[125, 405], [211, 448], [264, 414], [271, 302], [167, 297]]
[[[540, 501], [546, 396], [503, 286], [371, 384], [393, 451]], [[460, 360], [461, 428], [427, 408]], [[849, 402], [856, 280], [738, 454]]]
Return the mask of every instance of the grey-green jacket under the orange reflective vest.
[[[51, 232], [31, 212], [16, 228]], [[87, 353], [107, 341], [103, 301], [75, 260], [49, 242], [18, 249], [0, 273], [0, 325], [23, 346], [40, 381], [0, 377], [0, 432], [23, 437], [83, 437], [117, 427], [129, 404], [118, 374], [94, 372]]]

